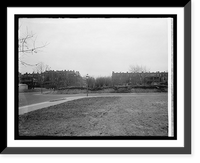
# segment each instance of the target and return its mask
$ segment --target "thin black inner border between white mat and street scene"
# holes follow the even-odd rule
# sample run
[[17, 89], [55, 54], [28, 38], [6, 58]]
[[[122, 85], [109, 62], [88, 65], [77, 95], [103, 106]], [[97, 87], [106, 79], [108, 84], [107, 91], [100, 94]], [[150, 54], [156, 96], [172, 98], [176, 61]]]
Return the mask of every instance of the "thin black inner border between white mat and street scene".
[[20, 18], [171, 18], [173, 20], [173, 136], [20, 136], [19, 135], [19, 91], [15, 82], [15, 140], [177, 140], [177, 15], [175, 14], [16, 14], [15, 22], [15, 81], [18, 80], [18, 22]]

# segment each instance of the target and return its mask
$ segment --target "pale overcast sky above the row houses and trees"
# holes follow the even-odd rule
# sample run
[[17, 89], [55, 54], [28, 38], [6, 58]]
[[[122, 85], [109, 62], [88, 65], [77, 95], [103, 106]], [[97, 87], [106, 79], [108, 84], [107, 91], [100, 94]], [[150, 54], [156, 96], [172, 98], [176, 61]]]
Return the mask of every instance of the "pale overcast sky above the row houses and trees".
[[[51, 70], [75, 70], [81, 76], [110, 76], [127, 72], [130, 65], [150, 71], [168, 70], [167, 18], [23, 18], [20, 37], [35, 34], [38, 53], [23, 55], [23, 61], [43, 62]], [[33, 72], [31, 66], [19, 67]]]

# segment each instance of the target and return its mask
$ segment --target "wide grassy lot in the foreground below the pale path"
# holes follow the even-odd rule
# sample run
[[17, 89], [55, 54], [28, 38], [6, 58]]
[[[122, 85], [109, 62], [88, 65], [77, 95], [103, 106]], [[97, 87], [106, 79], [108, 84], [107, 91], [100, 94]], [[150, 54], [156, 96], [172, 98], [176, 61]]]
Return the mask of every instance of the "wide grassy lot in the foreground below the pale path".
[[167, 94], [93, 97], [19, 115], [20, 136], [167, 136]]

